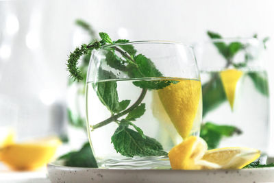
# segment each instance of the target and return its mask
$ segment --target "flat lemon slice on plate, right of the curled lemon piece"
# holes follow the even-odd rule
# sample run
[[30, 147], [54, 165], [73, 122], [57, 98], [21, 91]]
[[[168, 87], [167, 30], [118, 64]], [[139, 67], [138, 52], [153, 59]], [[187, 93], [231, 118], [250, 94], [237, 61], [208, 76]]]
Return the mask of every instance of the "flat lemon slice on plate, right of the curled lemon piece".
[[207, 151], [202, 159], [219, 164], [221, 169], [242, 169], [242, 167], [245, 167], [259, 157], [260, 151], [258, 149], [225, 147]]

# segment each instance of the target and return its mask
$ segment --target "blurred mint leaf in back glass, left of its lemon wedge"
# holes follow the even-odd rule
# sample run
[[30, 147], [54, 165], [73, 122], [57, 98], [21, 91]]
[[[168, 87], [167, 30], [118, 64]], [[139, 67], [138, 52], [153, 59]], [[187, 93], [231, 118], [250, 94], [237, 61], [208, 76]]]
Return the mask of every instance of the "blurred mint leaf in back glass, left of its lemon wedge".
[[226, 101], [225, 90], [219, 73], [214, 73], [209, 82], [203, 84], [203, 117]]

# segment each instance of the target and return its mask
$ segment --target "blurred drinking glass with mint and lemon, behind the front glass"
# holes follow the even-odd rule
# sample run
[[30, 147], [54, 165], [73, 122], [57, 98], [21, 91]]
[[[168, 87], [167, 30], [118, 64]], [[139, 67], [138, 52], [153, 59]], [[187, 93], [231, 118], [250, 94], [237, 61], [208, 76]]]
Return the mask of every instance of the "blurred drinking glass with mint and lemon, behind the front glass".
[[234, 132], [227, 128], [226, 135], [234, 135], [223, 138], [217, 147], [266, 152], [269, 87], [262, 42], [257, 38], [213, 39], [200, 42], [195, 51], [203, 90], [203, 125], [236, 127]]

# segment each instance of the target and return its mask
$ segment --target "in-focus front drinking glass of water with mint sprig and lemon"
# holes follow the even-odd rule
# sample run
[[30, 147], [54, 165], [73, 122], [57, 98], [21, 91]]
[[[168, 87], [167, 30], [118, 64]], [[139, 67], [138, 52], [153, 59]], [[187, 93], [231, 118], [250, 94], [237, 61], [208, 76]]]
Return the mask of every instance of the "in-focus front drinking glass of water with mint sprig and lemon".
[[199, 78], [192, 47], [179, 42], [124, 42], [93, 51], [86, 118], [99, 167], [170, 168], [167, 152], [199, 135]]

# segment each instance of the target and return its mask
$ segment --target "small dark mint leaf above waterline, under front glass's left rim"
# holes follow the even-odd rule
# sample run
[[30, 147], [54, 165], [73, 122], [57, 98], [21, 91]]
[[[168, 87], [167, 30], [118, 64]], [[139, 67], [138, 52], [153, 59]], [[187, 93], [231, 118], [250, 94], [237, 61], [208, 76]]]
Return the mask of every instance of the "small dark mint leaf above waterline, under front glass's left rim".
[[116, 56], [113, 50], [108, 51], [105, 55], [105, 62], [114, 69], [118, 69], [120, 71], [126, 71], [127, 67], [124, 65], [125, 60]]

